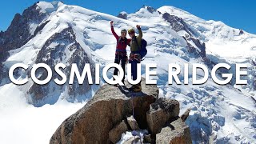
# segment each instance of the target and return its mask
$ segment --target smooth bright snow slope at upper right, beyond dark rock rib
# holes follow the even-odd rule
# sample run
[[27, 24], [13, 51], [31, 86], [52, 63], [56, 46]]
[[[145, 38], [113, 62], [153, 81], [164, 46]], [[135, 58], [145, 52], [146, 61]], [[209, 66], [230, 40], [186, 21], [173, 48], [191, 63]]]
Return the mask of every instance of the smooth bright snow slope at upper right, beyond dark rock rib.
[[[223, 22], [206, 21], [173, 6], [162, 6], [158, 10], [183, 18], [198, 34], [198, 38], [206, 42], [209, 54], [216, 54], [231, 62], [245, 62], [247, 58], [253, 58], [256, 54], [254, 49], [256, 36], [254, 34], [247, 32], [239, 34], [239, 29], [226, 26]], [[232, 54], [230, 54], [231, 51]]]

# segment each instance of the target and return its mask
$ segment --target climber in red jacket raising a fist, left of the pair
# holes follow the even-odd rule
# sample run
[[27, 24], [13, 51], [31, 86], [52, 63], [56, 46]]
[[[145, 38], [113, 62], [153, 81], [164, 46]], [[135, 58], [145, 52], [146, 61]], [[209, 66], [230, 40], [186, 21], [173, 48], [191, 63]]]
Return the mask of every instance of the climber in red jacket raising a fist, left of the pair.
[[[114, 63], [120, 64], [122, 66], [122, 70], [124, 71], [124, 74], [126, 74], [126, 62], [127, 62], [127, 53], [126, 53], [126, 46], [130, 43], [130, 39], [126, 38], [127, 31], [125, 29], [121, 30], [121, 36], [118, 36], [114, 32], [114, 26], [113, 21], [110, 22], [111, 26], [111, 32], [114, 35], [114, 38], [117, 40], [117, 46], [115, 50], [115, 58]], [[114, 75], [118, 75], [118, 69], [114, 69]], [[125, 81], [125, 76], [122, 78], [122, 83]]]

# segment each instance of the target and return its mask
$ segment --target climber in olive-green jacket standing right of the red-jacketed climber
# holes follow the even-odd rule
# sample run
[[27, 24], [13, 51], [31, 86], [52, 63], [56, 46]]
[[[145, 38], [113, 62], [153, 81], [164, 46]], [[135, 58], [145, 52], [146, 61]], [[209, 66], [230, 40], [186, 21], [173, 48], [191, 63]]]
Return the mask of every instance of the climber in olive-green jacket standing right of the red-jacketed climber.
[[[139, 54], [140, 49], [142, 46], [142, 30], [141, 26], [136, 26], [138, 29], [138, 36], [135, 36], [135, 30], [133, 28], [128, 30], [128, 34], [131, 38], [130, 41], [130, 59], [129, 62], [131, 64], [131, 74], [133, 77], [133, 80], [137, 79], [137, 64], [141, 62], [141, 55]], [[137, 85], [133, 85], [130, 87], [130, 90], [133, 90], [134, 92], [139, 92], [142, 90], [141, 82], [139, 82]]]

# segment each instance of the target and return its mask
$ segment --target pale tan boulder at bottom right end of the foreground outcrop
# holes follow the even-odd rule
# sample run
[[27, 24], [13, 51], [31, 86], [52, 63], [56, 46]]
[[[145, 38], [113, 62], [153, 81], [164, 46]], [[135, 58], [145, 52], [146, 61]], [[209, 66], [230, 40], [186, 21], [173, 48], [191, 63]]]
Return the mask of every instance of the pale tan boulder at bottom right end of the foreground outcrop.
[[192, 143], [190, 138], [190, 128], [182, 122], [181, 118], [178, 118], [174, 122], [171, 122], [169, 126], [162, 128], [161, 132], [156, 136], [156, 143]]

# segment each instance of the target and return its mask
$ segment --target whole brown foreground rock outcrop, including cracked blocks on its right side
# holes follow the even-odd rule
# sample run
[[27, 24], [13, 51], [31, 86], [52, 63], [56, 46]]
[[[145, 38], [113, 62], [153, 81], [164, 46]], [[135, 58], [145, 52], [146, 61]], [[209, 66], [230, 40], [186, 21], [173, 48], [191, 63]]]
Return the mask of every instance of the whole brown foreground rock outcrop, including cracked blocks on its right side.
[[[86, 106], [62, 122], [50, 143], [116, 143], [123, 133], [134, 129], [157, 130], [145, 135], [145, 142], [155, 143], [166, 134], [167, 129], [172, 133], [177, 131], [178, 138], [172, 136], [164, 142], [174, 140], [190, 143], [189, 127], [184, 122], [176, 120], [178, 113], [178, 101], [158, 99], [157, 86], [145, 85], [144, 79], [140, 93], [129, 92], [126, 87], [106, 84], [86, 103]], [[170, 125], [174, 125], [174, 129], [168, 129]]]

